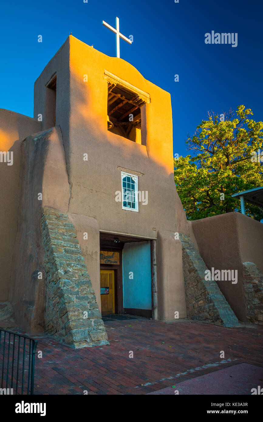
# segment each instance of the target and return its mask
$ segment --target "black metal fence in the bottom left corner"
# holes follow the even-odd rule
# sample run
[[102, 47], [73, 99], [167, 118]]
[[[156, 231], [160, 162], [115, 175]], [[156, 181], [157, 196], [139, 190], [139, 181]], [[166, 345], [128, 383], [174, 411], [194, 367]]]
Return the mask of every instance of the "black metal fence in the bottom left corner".
[[0, 394], [34, 394], [38, 342], [0, 328]]

